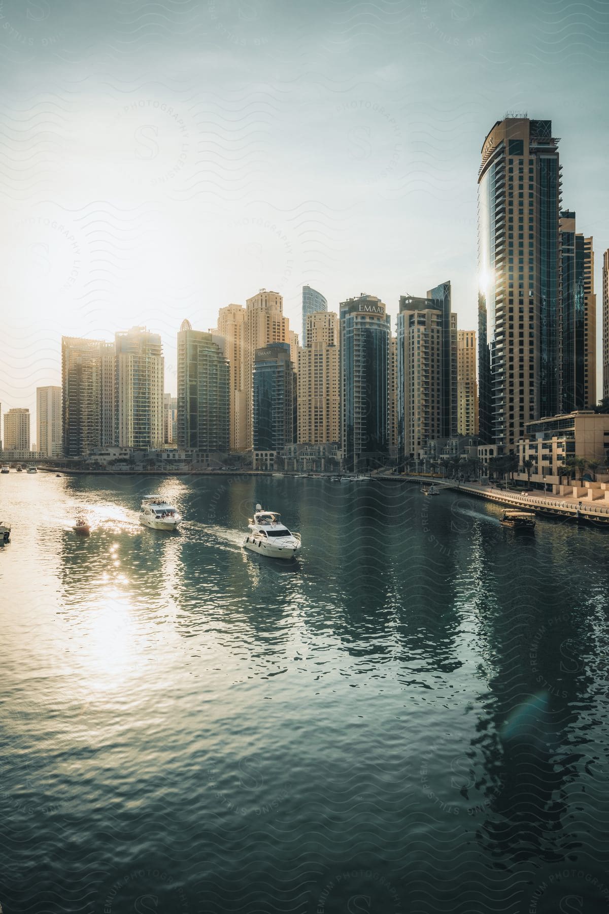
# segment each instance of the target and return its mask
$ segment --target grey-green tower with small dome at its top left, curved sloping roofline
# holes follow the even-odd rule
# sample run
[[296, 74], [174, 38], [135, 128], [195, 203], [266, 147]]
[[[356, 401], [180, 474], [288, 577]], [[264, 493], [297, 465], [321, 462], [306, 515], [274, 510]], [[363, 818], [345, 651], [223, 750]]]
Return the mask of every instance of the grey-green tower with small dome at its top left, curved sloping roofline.
[[178, 333], [178, 447], [228, 451], [230, 367], [212, 334], [183, 321]]

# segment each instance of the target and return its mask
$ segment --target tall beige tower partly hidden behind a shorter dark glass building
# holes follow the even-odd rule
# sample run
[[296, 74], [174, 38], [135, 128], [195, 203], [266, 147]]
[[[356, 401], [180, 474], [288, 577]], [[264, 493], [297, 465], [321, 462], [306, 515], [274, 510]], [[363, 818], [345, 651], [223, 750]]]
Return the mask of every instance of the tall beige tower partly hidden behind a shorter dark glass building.
[[245, 423], [242, 426], [247, 448], [251, 448], [254, 441], [254, 356], [257, 349], [268, 343], [289, 343], [291, 350], [294, 340], [289, 337], [289, 320], [283, 316], [283, 297], [278, 292], [260, 289], [247, 299], [241, 340], [241, 383], [245, 400]]

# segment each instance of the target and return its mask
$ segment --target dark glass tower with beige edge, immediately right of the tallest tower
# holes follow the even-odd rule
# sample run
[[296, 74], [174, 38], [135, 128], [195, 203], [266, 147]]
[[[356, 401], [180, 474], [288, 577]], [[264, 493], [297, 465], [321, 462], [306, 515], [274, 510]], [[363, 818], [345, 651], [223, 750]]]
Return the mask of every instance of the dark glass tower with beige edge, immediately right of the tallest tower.
[[558, 320], [558, 411], [596, 404], [596, 296], [592, 238], [575, 230], [575, 213], [560, 223], [561, 272]]

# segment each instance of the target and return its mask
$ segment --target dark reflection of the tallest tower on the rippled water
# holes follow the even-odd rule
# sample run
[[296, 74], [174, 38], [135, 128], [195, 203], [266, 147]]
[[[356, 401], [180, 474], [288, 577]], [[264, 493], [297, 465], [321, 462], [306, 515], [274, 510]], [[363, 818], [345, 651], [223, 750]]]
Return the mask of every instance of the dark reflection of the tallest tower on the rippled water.
[[[527, 573], [523, 556], [531, 554], [539, 560]], [[575, 838], [562, 817], [567, 784], [579, 776], [569, 746], [591, 684], [577, 659], [590, 650], [590, 623], [577, 585], [567, 592], [551, 569], [546, 556], [518, 542], [501, 566], [484, 539], [470, 562], [472, 643], [483, 645], [479, 670], [488, 683], [470, 744], [487, 813], [478, 840], [513, 862], [560, 859]], [[554, 606], [565, 607], [555, 625]]]

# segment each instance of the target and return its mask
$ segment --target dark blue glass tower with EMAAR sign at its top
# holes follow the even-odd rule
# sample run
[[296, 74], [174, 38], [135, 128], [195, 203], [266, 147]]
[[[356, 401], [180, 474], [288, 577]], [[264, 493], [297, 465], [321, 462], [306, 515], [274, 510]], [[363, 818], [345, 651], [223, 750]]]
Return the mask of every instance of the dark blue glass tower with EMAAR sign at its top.
[[378, 466], [389, 454], [390, 337], [380, 299], [362, 292], [341, 302], [341, 452], [351, 471]]

